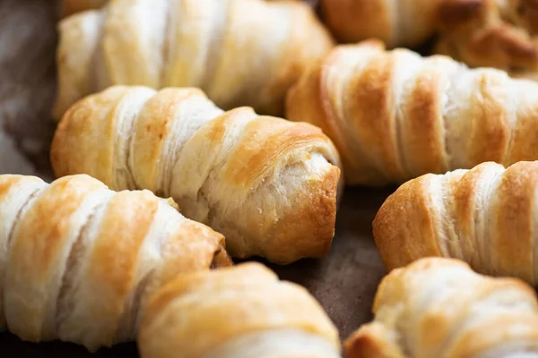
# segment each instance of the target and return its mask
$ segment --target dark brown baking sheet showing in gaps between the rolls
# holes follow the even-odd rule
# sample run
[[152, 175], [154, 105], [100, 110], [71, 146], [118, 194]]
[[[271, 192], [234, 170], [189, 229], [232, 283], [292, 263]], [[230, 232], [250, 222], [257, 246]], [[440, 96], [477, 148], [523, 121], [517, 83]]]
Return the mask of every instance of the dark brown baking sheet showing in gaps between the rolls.
[[[0, 0], [0, 174], [52, 178], [48, 145], [54, 131], [49, 109], [56, 90], [56, 2]], [[390, 190], [346, 188], [336, 236], [323, 260], [270, 265], [283, 279], [306, 286], [347, 337], [371, 319], [370, 307], [385, 268], [371, 222]], [[90, 354], [65, 344], [29, 344], [0, 334], [0, 357], [136, 357], [134, 344]]]

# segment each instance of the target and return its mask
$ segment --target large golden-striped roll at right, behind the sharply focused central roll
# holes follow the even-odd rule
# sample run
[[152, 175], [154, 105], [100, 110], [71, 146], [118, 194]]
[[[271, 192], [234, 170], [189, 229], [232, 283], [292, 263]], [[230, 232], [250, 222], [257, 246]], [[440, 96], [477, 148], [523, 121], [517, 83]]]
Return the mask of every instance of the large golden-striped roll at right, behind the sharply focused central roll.
[[538, 159], [538, 84], [446, 56], [340, 46], [293, 86], [287, 117], [321, 127], [347, 183]]

